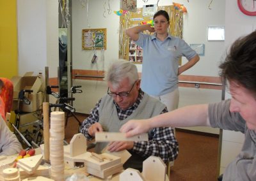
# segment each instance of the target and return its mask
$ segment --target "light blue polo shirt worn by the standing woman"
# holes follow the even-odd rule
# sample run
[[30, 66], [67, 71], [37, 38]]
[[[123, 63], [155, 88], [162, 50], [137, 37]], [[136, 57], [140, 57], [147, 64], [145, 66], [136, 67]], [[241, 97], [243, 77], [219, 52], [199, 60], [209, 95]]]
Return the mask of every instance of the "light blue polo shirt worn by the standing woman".
[[152, 96], [162, 96], [178, 87], [179, 57], [195, 57], [195, 50], [182, 39], [168, 35], [164, 41], [139, 34], [136, 44], [143, 48], [141, 89]]

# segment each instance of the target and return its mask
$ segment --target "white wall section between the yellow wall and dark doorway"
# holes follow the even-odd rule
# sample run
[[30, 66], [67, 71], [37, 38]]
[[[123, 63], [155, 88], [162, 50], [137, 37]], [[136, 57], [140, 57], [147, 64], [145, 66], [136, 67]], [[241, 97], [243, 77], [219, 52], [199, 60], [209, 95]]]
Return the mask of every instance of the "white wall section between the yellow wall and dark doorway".
[[19, 75], [27, 71], [57, 76], [58, 0], [17, 0]]

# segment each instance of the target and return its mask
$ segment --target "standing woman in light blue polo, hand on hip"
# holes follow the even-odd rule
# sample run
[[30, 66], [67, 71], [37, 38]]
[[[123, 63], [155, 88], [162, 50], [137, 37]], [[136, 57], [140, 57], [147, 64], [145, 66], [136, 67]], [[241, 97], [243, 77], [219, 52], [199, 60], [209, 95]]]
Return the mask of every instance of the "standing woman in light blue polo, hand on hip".
[[[199, 56], [184, 40], [168, 34], [169, 24], [168, 13], [159, 10], [154, 15], [154, 27], [138, 25], [127, 29], [126, 34], [143, 48], [141, 89], [171, 111], [179, 105], [178, 76], [194, 66]], [[143, 34], [146, 30], [154, 34]], [[188, 62], [179, 67], [181, 56]]]

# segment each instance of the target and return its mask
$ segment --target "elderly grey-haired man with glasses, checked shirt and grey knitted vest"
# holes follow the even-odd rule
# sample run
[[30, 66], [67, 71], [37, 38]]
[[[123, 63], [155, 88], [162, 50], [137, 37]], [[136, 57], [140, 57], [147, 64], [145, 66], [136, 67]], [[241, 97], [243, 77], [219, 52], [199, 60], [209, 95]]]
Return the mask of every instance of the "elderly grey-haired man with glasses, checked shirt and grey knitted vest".
[[[80, 132], [92, 140], [96, 132], [119, 132], [120, 127], [130, 119], [147, 119], [168, 112], [161, 101], [154, 99], [140, 89], [136, 66], [129, 61], [116, 61], [106, 75], [108, 94], [101, 98], [89, 117], [83, 121]], [[128, 150], [131, 157], [124, 168], [142, 170], [142, 163], [149, 156], [158, 156], [164, 162], [177, 158], [179, 146], [172, 127], [159, 127], [148, 131], [149, 141], [113, 141], [97, 143], [95, 152], [108, 145], [110, 152]]]

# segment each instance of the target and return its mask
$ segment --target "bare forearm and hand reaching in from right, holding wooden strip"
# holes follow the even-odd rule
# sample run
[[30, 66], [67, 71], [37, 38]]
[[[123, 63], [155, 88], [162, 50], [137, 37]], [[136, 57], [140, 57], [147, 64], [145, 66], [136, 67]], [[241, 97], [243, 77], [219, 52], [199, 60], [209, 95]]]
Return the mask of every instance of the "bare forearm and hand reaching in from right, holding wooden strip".
[[210, 126], [208, 120], [208, 105], [192, 105], [179, 108], [172, 112], [152, 117], [148, 120], [130, 120], [124, 124], [120, 131], [126, 135], [134, 136], [147, 133], [154, 127], [191, 127]]

